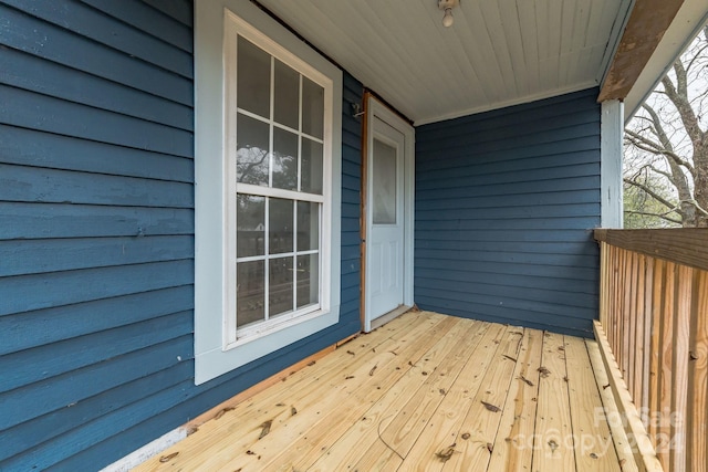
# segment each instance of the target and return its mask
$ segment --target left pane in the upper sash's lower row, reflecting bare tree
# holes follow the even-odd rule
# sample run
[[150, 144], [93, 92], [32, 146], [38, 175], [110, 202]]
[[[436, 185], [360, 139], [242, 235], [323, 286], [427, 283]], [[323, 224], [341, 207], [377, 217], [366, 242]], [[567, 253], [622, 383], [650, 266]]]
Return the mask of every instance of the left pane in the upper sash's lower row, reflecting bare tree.
[[236, 180], [268, 187], [269, 125], [239, 113], [236, 126]]

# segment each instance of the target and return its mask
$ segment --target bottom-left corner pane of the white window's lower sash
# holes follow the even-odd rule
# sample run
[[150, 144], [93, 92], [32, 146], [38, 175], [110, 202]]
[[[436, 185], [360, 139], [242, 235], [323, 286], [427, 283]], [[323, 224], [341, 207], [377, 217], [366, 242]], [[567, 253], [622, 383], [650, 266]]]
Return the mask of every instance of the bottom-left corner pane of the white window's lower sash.
[[237, 327], [266, 318], [266, 261], [236, 264], [236, 325]]

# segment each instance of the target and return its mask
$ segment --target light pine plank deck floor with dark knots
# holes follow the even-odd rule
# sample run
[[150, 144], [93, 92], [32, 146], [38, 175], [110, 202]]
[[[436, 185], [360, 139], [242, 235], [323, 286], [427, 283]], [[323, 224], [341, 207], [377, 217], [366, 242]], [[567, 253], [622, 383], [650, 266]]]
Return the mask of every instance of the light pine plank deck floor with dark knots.
[[137, 470], [629, 470], [602, 415], [595, 355], [575, 337], [406, 313]]

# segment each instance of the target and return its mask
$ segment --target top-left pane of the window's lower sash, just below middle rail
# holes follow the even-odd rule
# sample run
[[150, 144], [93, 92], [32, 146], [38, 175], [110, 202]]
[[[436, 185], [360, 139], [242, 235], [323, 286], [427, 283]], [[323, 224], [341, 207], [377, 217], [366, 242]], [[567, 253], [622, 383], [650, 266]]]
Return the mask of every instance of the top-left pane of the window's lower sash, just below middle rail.
[[236, 197], [236, 255], [248, 258], [266, 253], [266, 198], [252, 195]]

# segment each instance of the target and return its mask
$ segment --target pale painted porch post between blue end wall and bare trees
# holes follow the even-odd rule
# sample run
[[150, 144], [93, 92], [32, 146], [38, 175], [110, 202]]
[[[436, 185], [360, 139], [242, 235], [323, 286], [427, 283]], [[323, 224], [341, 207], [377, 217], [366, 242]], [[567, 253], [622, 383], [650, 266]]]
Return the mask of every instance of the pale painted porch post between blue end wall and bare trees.
[[623, 227], [622, 141], [624, 104], [618, 99], [602, 102], [600, 144], [601, 227]]

